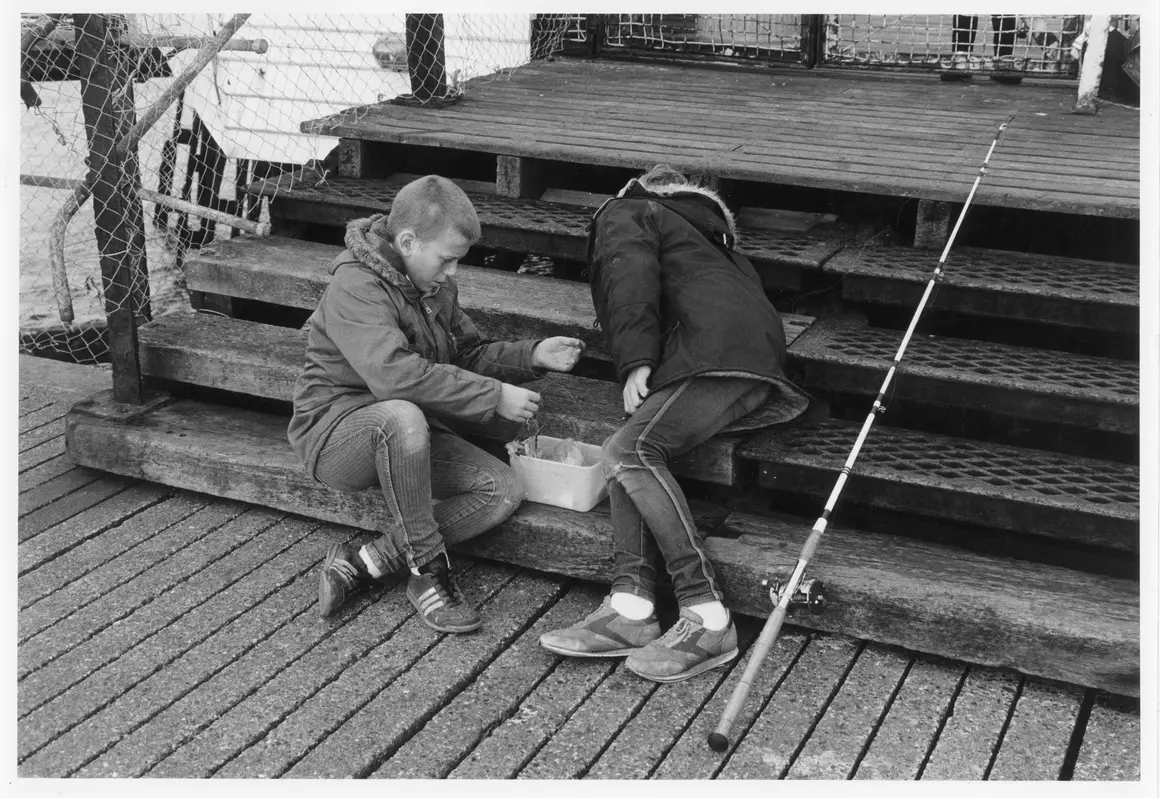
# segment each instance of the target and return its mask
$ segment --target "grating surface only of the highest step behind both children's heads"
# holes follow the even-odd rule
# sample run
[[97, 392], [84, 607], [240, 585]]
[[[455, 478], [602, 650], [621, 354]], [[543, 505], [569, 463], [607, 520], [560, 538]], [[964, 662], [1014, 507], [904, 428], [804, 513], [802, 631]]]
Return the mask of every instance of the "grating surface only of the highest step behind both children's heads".
[[[326, 205], [340, 205], [360, 211], [386, 213], [399, 186], [389, 180], [327, 176], [325, 183], [303, 180], [300, 173], [277, 180], [261, 180], [249, 186], [251, 194], [292, 198]], [[494, 194], [467, 191], [479, 223], [500, 227], [575, 239], [588, 235], [588, 222], [594, 209], [544, 200], [522, 200]], [[485, 234], [486, 239], [486, 234]], [[809, 233], [773, 233], [764, 230], [740, 230], [738, 251], [768, 263], [820, 269], [843, 241]]]

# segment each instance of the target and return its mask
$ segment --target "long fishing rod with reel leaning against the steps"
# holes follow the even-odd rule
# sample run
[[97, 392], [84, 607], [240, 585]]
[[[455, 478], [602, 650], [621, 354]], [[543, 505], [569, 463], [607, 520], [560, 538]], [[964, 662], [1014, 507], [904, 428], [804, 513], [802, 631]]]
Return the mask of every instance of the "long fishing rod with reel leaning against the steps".
[[821, 536], [825, 534], [826, 527], [829, 524], [829, 516], [834, 512], [834, 505], [838, 503], [838, 498], [842, 494], [842, 488], [846, 487], [846, 481], [849, 479], [850, 472], [854, 471], [854, 463], [857, 460], [858, 452], [862, 451], [862, 444], [865, 442], [867, 436], [870, 434], [870, 428], [873, 426], [875, 414], [883, 413], [886, 409], [882, 402], [886, 397], [890, 383], [894, 378], [894, 372], [898, 370], [899, 364], [902, 362], [902, 355], [906, 353], [906, 347], [911, 342], [914, 328], [919, 325], [919, 318], [921, 318], [922, 311], [927, 306], [927, 300], [930, 299], [930, 293], [934, 291], [935, 283], [937, 283], [943, 275], [943, 264], [947, 262], [947, 255], [950, 253], [950, 248], [955, 244], [955, 237], [958, 235], [958, 228], [963, 224], [963, 217], [966, 216], [966, 209], [970, 208], [971, 201], [974, 198], [974, 193], [979, 188], [979, 183], [983, 181], [984, 175], [987, 174], [987, 164], [991, 162], [991, 155], [994, 153], [995, 146], [999, 144], [999, 138], [1003, 135], [1007, 125], [1009, 125], [1014, 118], [1015, 115], [1012, 114], [1006, 122], [999, 125], [999, 131], [995, 133], [995, 138], [991, 143], [991, 147], [987, 150], [987, 157], [983, 159], [983, 166], [979, 167], [979, 174], [974, 177], [974, 184], [971, 186], [971, 193], [967, 194], [966, 202], [963, 203], [963, 210], [958, 213], [958, 220], [955, 222], [955, 228], [951, 230], [950, 237], [947, 239], [947, 246], [943, 247], [942, 256], [938, 259], [938, 264], [935, 267], [935, 271], [930, 276], [930, 281], [927, 283], [926, 291], [922, 292], [922, 299], [919, 300], [919, 306], [914, 311], [914, 317], [911, 319], [911, 326], [907, 327], [906, 334], [902, 336], [902, 342], [898, 347], [898, 353], [894, 355], [894, 362], [891, 363], [890, 369], [886, 371], [886, 378], [883, 380], [882, 387], [878, 390], [878, 396], [873, 400], [873, 405], [870, 407], [870, 413], [867, 415], [867, 420], [862, 425], [862, 430], [858, 433], [858, 437], [854, 442], [854, 448], [850, 450], [849, 457], [846, 458], [846, 464], [842, 466], [841, 473], [838, 474], [838, 481], [834, 484], [834, 489], [831, 492], [829, 499], [826, 501], [826, 507], [822, 510], [821, 516], [819, 516], [819, 518], [814, 522], [813, 529], [810, 531], [810, 537], [806, 538], [805, 545], [802, 546], [802, 552], [798, 554], [797, 565], [793, 568], [792, 575], [784, 585], [775, 581], [770, 587], [769, 597], [774, 601], [774, 611], [766, 621], [766, 625], [762, 627], [756, 643], [753, 644], [753, 651], [749, 654], [749, 661], [746, 663], [745, 673], [741, 674], [741, 681], [738, 682], [735, 688], [733, 688], [733, 695], [730, 696], [728, 704], [726, 704], [725, 711], [722, 713], [722, 719], [717, 724], [717, 730], [709, 735], [709, 747], [713, 750], [724, 752], [728, 748], [730, 730], [733, 726], [733, 721], [737, 720], [737, 716], [740, 713], [746, 699], [749, 697], [753, 680], [757, 675], [761, 663], [769, 654], [769, 650], [777, 641], [777, 636], [782, 631], [782, 624], [785, 622], [785, 614], [789, 611], [790, 604], [807, 604], [814, 612], [820, 611], [825, 605], [824, 587], [818, 582], [818, 580], [807, 580], [806, 582], [803, 582], [806, 566], [810, 564], [810, 560], [813, 559], [814, 551], [817, 551], [818, 544], [821, 542]]

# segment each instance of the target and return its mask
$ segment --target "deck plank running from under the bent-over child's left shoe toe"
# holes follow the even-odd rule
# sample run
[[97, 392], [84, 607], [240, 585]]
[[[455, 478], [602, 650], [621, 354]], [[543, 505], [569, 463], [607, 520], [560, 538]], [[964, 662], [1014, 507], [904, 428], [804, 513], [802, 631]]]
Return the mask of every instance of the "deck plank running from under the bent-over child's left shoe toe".
[[558, 658], [539, 646], [539, 636], [583, 617], [602, 592], [575, 585], [484, 670], [463, 692], [423, 724], [371, 778], [445, 778], [492, 730], [520, 711]]

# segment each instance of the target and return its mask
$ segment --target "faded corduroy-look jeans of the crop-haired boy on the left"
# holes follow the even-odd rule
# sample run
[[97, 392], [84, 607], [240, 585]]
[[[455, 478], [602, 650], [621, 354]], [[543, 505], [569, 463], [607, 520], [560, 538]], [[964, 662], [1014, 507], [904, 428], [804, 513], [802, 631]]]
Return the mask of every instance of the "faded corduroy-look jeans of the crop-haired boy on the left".
[[347, 493], [383, 491], [391, 517], [368, 551], [384, 575], [429, 563], [447, 545], [503, 522], [523, 501], [523, 487], [506, 463], [432, 428], [423, 412], [404, 400], [343, 418], [322, 445], [314, 476]]

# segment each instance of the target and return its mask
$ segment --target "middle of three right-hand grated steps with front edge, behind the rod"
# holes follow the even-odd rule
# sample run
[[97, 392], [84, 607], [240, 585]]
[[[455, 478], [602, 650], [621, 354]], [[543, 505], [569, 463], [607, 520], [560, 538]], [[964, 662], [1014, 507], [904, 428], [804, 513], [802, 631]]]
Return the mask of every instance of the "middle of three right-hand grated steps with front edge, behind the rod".
[[[806, 389], [876, 396], [902, 333], [815, 321], [790, 347]], [[1139, 429], [1139, 365], [983, 341], [915, 335], [892, 397], [1105, 433]]]

